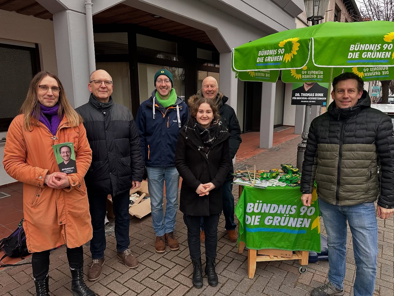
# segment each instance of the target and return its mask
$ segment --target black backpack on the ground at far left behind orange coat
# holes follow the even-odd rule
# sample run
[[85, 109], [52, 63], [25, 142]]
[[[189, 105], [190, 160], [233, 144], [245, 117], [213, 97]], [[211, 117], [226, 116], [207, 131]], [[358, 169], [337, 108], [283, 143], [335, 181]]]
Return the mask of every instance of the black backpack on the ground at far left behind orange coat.
[[[25, 256], [30, 254], [27, 250], [26, 234], [23, 230], [23, 220], [24, 219], [20, 220], [18, 228], [13, 233], [11, 233], [7, 238], [3, 238], [2, 240], [0, 240], [0, 250], [4, 249], [5, 252], [5, 255], [0, 259], [0, 261], [7, 256], [12, 258], [20, 257], [21, 259], [24, 259]], [[17, 266], [24, 264], [31, 263], [28, 262], [19, 264], [2, 264], [0, 265], [0, 267]]]

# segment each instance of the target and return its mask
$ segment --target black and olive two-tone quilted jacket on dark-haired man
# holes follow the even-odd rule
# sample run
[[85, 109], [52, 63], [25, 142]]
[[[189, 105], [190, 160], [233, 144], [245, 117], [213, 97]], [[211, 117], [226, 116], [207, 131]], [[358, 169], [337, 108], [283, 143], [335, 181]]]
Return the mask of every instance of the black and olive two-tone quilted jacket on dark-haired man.
[[[375, 201], [394, 206], [394, 134], [391, 118], [370, 107], [364, 90], [354, 107], [328, 111], [312, 120], [301, 176], [301, 192], [314, 180], [325, 202], [350, 206]], [[377, 174], [381, 164], [381, 187]], [[380, 189], [380, 191], [379, 191]]]

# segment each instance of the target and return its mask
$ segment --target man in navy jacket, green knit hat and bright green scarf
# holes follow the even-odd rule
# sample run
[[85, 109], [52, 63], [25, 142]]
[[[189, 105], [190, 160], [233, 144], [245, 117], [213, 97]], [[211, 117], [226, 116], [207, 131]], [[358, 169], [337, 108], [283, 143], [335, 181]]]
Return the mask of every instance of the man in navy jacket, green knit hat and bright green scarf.
[[[173, 75], [161, 69], [154, 75], [156, 89], [138, 109], [136, 124], [141, 141], [142, 157], [148, 174], [151, 197], [153, 229], [156, 233], [154, 249], [165, 252], [179, 249], [174, 236], [178, 210], [179, 174], [175, 168], [175, 147], [180, 128], [189, 117], [186, 103], [173, 88]], [[163, 187], [165, 181], [165, 217], [163, 211]]]

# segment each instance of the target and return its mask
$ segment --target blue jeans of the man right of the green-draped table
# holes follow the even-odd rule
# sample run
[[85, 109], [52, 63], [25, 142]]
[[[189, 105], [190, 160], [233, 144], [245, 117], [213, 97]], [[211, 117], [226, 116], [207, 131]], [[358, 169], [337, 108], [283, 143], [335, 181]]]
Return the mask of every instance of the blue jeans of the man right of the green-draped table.
[[377, 220], [374, 202], [355, 206], [336, 206], [321, 198], [319, 208], [327, 231], [329, 281], [343, 289], [346, 272], [346, 235], [349, 223], [356, 262], [354, 296], [372, 296], [377, 268]]

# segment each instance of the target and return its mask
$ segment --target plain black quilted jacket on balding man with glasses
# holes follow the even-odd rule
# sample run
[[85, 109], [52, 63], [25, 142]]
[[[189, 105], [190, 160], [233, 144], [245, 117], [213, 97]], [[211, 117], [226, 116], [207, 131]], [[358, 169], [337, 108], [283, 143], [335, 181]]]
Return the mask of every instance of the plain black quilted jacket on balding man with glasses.
[[89, 102], [75, 109], [84, 118], [92, 163], [85, 175], [90, 192], [117, 195], [130, 190], [131, 181], [142, 181], [144, 164], [133, 116], [123, 105]]

